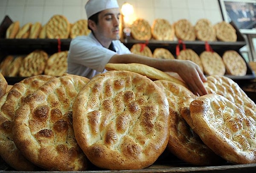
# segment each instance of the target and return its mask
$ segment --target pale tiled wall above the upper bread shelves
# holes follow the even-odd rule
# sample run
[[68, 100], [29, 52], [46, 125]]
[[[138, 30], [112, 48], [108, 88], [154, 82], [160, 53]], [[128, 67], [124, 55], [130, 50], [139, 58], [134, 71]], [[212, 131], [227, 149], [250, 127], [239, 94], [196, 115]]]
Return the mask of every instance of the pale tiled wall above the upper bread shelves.
[[[84, 5], [87, 0], [0, 0], [0, 20], [6, 15], [19, 20], [20, 26], [28, 22], [47, 21], [54, 14], [63, 14], [70, 23], [86, 19]], [[222, 20], [218, 0], [118, 0], [119, 6], [128, 2], [134, 6], [134, 16], [148, 20], [164, 18], [170, 23], [185, 18], [192, 24], [200, 18], [209, 19], [212, 24]]]

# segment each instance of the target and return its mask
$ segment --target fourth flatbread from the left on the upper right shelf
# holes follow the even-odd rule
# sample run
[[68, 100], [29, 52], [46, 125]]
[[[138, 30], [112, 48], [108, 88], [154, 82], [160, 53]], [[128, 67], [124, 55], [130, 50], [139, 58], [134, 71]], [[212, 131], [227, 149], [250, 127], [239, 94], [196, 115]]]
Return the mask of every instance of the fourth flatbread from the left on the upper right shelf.
[[200, 19], [195, 24], [195, 35], [201, 41], [215, 41], [216, 31], [208, 19]]

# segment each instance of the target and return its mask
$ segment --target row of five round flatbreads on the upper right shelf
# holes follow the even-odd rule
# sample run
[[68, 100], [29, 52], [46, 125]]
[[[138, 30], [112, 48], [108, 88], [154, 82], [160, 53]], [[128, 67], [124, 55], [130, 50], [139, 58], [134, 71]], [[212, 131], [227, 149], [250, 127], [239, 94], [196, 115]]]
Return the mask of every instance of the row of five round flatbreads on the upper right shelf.
[[171, 24], [168, 20], [159, 18], [155, 19], [151, 26], [147, 20], [139, 18], [131, 25], [131, 36], [135, 40], [173, 41], [178, 39], [223, 42], [237, 40], [236, 29], [230, 23], [221, 21], [212, 25], [205, 18], [199, 19], [195, 25], [187, 19], [180, 19]]

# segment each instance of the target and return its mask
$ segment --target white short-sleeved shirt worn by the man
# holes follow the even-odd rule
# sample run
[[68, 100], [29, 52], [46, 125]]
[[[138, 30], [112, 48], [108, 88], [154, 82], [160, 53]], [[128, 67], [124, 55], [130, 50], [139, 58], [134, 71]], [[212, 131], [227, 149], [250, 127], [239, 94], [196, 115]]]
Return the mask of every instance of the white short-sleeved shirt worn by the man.
[[96, 74], [105, 72], [105, 65], [115, 54], [131, 54], [131, 51], [120, 42], [113, 40], [116, 52], [102, 46], [90, 33], [71, 40], [67, 57], [67, 73], [91, 79]]

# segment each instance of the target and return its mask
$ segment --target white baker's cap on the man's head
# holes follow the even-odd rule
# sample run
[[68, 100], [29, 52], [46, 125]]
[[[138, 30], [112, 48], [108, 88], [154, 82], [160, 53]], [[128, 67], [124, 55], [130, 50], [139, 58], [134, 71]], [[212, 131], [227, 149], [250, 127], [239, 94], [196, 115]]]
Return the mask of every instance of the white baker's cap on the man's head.
[[115, 8], [119, 8], [117, 0], [88, 0], [85, 5], [87, 19], [99, 11]]

